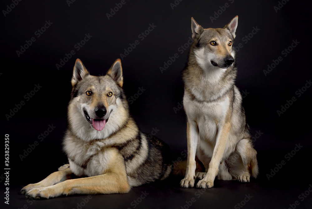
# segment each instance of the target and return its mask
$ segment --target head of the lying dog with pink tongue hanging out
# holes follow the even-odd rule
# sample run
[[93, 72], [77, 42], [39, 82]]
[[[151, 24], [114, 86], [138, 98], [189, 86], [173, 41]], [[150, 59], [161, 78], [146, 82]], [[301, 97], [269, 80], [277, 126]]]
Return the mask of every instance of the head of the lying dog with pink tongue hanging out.
[[[120, 59], [115, 61], [105, 76], [90, 75], [80, 59], [77, 59], [71, 84], [71, 102], [68, 111], [71, 129], [82, 132], [89, 127], [99, 132], [102, 130], [107, 132], [109, 129], [108, 132], [111, 133], [118, 129], [122, 120], [126, 120], [128, 103], [122, 89]], [[114, 121], [112, 124], [109, 122], [110, 119]]]

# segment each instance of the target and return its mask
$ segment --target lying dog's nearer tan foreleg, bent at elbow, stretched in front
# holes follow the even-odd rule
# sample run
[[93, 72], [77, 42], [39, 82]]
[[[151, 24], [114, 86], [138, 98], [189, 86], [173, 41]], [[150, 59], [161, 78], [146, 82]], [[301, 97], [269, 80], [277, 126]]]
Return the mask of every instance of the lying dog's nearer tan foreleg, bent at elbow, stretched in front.
[[112, 194], [129, 191], [124, 159], [115, 151], [111, 155], [108, 170], [103, 175], [69, 179], [53, 186], [34, 188], [26, 195], [39, 199], [70, 194]]

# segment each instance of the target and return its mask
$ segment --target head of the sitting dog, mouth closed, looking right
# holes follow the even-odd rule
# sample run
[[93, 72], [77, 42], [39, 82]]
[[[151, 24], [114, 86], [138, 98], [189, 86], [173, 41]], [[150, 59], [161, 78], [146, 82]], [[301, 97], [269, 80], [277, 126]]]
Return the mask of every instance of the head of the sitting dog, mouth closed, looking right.
[[224, 28], [203, 29], [193, 18], [193, 52], [202, 69], [218, 67], [227, 69], [234, 63], [235, 52], [232, 48], [238, 16]]

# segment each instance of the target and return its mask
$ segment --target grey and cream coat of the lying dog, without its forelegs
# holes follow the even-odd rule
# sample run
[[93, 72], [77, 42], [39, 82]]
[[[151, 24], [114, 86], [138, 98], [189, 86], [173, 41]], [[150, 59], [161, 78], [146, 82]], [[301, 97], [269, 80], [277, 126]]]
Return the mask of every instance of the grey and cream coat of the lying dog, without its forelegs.
[[[81, 64], [80, 67], [83, 66]], [[75, 65], [75, 80], [78, 80], [76, 69], [78, 72], [84, 72], [80, 67]], [[68, 129], [63, 142], [74, 174], [102, 174], [105, 166], [101, 165], [101, 161], [105, 164], [105, 149], [113, 148], [124, 158], [130, 186], [139, 186], [167, 177], [171, 171], [170, 159], [166, 156], [170, 155], [168, 145], [156, 137], [149, 139], [139, 131], [131, 118], [122, 89], [120, 60], [112, 65], [105, 76], [86, 73], [81, 77], [72, 89], [72, 98], [68, 106]], [[89, 89], [92, 89], [92, 96], [86, 95]], [[112, 92], [113, 96], [106, 96], [109, 92]], [[107, 104], [103, 98], [107, 98]], [[107, 120], [107, 123], [101, 131], [94, 130], [82, 111], [83, 107], [90, 118], [96, 118], [94, 108], [97, 104], [106, 105], [108, 110], [102, 118]]]

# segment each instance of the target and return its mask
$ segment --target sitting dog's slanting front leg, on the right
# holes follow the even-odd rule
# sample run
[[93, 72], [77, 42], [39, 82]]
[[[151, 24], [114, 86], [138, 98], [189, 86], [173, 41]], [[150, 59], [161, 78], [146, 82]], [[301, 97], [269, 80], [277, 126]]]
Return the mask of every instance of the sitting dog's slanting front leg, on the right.
[[211, 161], [209, 163], [207, 174], [202, 180], [198, 181], [197, 183], [198, 188], [213, 187], [213, 181], [218, 174], [219, 165], [224, 155], [224, 150], [227, 144], [227, 137], [229, 135], [230, 128], [231, 124], [225, 123], [223, 127], [221, 126], [220, 131], [218, 130], [216, 145], [213, 149], [213, 154]]

